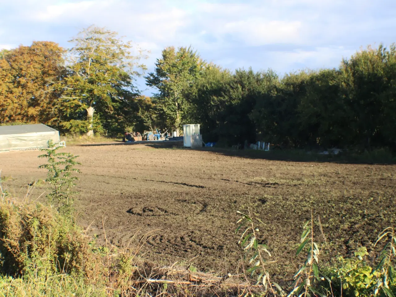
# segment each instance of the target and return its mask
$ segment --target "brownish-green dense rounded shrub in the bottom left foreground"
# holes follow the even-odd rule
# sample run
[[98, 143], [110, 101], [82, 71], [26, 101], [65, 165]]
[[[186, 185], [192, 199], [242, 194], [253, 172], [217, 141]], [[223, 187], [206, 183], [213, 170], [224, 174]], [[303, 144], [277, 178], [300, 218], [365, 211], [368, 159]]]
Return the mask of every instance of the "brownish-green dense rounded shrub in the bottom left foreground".
[[98, 265], [81, 230], [49, 206], [11, 200], [1, 203], [1, 274], [44, 277], [70, 273], [95, 278]]

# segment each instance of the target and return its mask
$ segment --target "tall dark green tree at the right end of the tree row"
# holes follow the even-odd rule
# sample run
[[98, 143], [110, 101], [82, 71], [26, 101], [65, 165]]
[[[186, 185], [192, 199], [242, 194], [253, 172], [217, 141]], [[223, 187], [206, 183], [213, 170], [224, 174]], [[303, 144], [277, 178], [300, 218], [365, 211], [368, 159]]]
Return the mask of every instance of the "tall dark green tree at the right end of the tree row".
[[348, 106], [353, 110], [350, 126], [356, 145], [371, 150], [388, 145], [395, 147], [393, 119], [396, 95], [396, 47], [368, 47], [344, 60], [341, 71], [348, 79]]

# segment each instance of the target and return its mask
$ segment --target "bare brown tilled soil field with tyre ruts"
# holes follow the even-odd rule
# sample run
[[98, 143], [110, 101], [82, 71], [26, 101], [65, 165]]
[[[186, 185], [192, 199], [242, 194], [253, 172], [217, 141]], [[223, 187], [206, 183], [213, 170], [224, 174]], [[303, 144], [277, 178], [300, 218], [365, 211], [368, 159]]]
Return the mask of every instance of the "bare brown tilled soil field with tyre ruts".
[[[378, 232], [396, 222], [396, 166], [268, 161], [145, 145], [63, 150], [83, 164], [76, 201], [81, 225], [93, 222], [90, 232], [103, 239], [105, 217], [116, 245], [153, 231], [142, 251], [163, 265], [192, 259], [200, 270], [234, 272], [242, 255], [236, 211], [248, 207], [265, 223], [259, 226], [263, 242], [278, 261], [270, 270], [287, 277], [299, 265], [295, 248], [311, 208], [321, 217], [329, 255], [362, 244], [374, 255]], [[0, 154], [2, 175], [12, 177], [4, 182], [10, 192], [21, 196], [27, 183], [45, 178], [38, 154]], [[44, 190], [36, 188], [37, 196]]]

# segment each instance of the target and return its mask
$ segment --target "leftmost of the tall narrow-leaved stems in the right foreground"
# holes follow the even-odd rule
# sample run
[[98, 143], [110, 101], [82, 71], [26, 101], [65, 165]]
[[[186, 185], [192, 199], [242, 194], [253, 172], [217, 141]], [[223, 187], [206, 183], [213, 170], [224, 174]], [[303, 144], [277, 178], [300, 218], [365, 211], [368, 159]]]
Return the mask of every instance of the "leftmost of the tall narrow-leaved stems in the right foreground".
[[259, 243], [259, 238], [257, 237], [259, 229], [255, 225], [255, 220], [260, 223], [263, 222], [259, 218], [253, 218], [250, 211], [248, 215], [240, 211], [237, 211], [237, 213], [242, 217], [237, 222], [239, 226], [236, 228], [235, 234], [237, 234], [241, 228], [244, 229], [238, 244], [240, 244], [245, 251], [244, 260], [250, 257], [250, 267], [246, 270], [246, 273], [250, 273], [251, 277], [253, 277], [254, 274], [258, 274], [256, 285], [262, 283], [265, 293], [269, 291], [273, 295], [277, 295], [276, 291], [278, 291], [280, 295], [285, 295], [284, 290], [279, 284], [270, 281], [270, 275], [265, 267], [265, 256], [271, 257], [271, 253], [266, 244]]

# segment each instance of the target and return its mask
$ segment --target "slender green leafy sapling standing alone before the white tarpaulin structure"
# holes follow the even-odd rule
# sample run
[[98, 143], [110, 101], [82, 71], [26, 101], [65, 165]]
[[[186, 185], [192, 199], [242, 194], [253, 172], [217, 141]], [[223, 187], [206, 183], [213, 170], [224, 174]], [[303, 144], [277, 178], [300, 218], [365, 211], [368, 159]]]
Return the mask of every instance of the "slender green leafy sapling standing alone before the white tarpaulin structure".
[[40, 165], [38, 168], [47, 169], [46, 182], [52, 186], [52, 192], [47, 195], [49, 204], [57, 203], [57, 211], [70, 214], [73, 204], [72, 195], [76, 193], [72, 191], [72, 188], [75, 187], [74, 181], [78, 179], [73, 176], [73, 173], [80, 172], [74, 166], [80, 163], [75, 161], [78, 156], [67, 152], [57, 152], [59, 148], [49, 140], [48, 148], [40, 149], [46, 154], [38, 156], [38, 158], [46, 158], [47, 164]]

